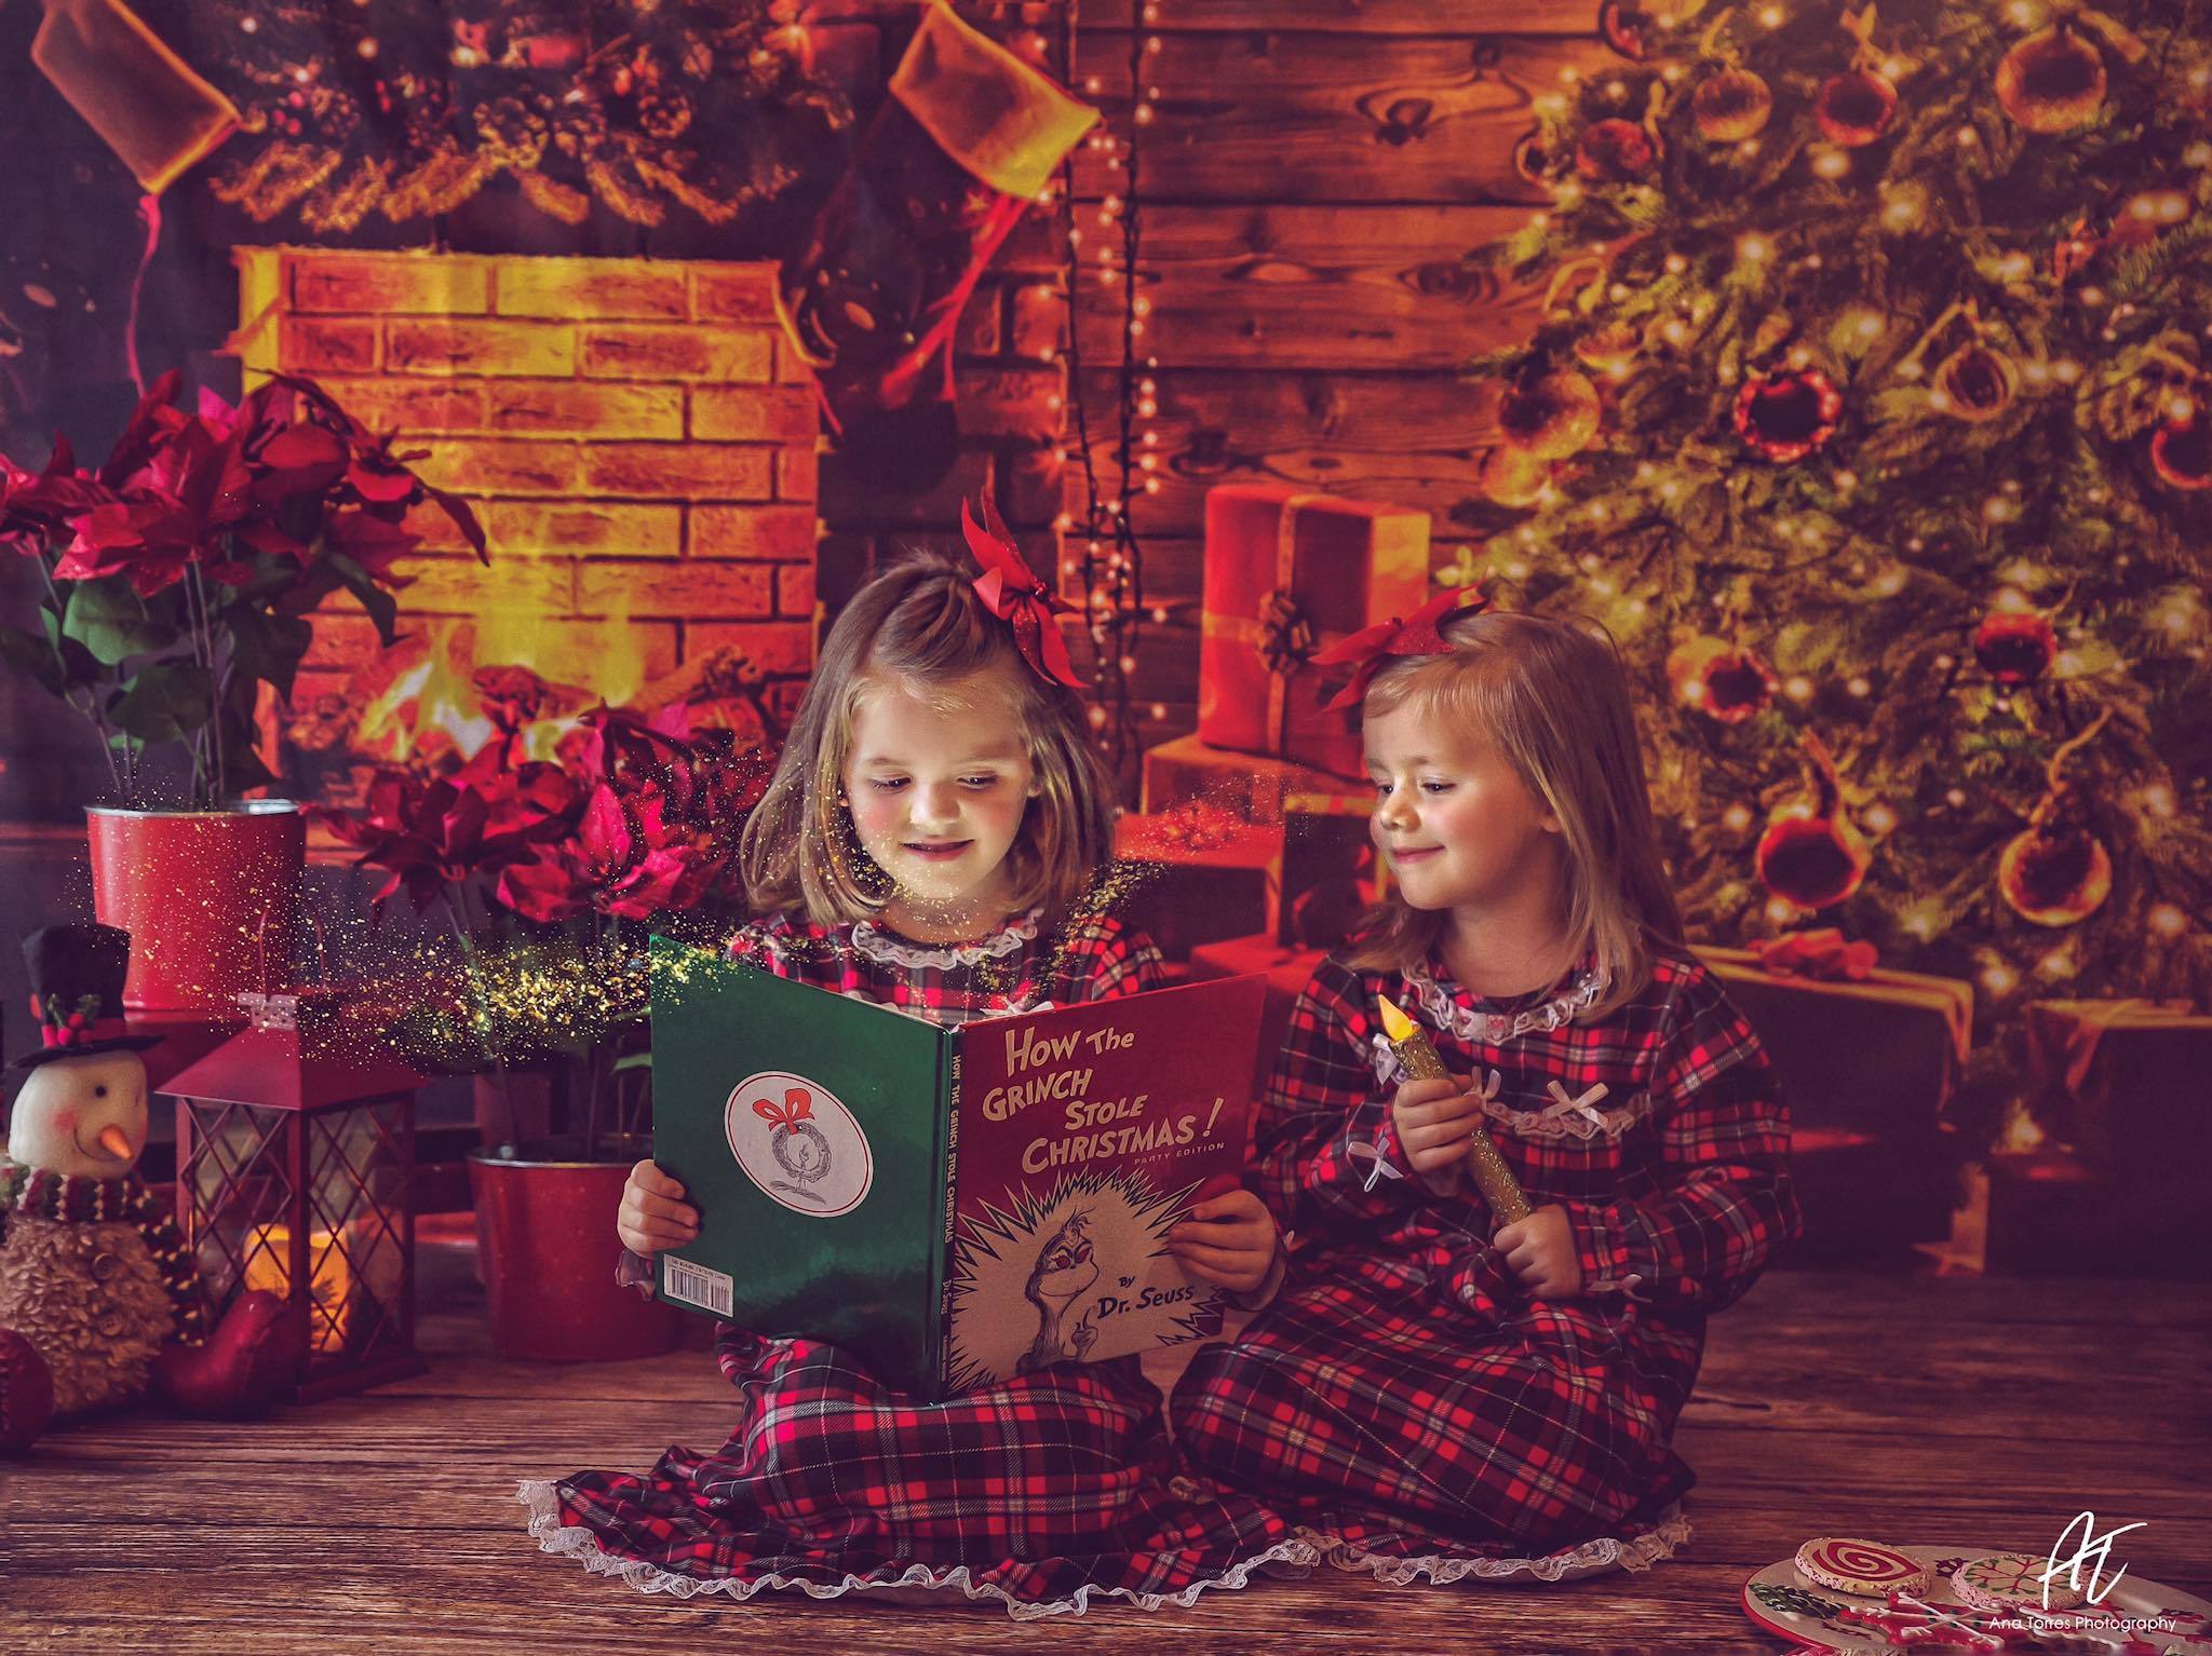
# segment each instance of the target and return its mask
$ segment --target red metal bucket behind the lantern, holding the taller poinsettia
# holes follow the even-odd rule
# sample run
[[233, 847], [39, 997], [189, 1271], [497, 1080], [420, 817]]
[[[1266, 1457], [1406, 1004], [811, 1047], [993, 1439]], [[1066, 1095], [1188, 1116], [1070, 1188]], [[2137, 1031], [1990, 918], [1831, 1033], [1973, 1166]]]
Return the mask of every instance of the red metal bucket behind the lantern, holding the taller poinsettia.
[[307, 820], [292, 800], [223, 811], [88, 805], [93, 915], [131, 933], [124, 1006], [237, 1013], [292, 982]]

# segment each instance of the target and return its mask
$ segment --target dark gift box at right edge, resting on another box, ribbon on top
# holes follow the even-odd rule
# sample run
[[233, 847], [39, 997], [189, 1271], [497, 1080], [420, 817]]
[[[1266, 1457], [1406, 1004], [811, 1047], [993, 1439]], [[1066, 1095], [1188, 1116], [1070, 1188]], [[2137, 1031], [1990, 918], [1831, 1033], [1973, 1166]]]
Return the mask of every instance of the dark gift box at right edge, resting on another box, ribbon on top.
[[2212, 1015], [2159, 1002], [2028, 1002], [2035, 1117], [2097, 1167], [2168, 1174], [2203, 1156]]

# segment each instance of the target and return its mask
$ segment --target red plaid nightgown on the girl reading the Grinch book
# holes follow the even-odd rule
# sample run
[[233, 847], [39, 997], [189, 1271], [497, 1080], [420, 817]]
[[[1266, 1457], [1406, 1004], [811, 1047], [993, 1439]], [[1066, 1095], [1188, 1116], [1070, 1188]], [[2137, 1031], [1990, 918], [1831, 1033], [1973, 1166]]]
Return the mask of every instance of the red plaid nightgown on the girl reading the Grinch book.
[[[860, 926], [774, 918], [732, 953], [779, 977], [964, 1024], [1006, 1006], [1108, 999], [1159, 986], [1159, 953], [1113, 918], [1053, 937], [1024, 915], [958, 948]], [[549, 1552], [646, 1592], [958, 1585], [1015, 1616], [1086, 1594], [1148, 1607], [1241, 1585], [1305, 1557], [1252, 1497], [1168, 1488], [1159, 1391], [1137, 1358], [1066, 1364], [911, 1402], [816, 1340], [719, 1324], [714, 1358], [743, 1395], [712, 1455], [670, 1448], [646, 1477], [575, 1472], [524, 1484]]]

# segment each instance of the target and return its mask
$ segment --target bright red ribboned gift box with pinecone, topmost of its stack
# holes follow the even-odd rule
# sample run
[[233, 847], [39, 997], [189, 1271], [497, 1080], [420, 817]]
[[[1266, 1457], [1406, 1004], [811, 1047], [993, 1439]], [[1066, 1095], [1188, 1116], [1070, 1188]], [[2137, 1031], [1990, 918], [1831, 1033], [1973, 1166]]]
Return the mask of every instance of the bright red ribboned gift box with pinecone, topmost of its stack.
[[1429, 515], [1276, 484], [1206, 495], [1199, 736], [1363, 776], [1349, 712], [1307, 657], [1429, 597]]

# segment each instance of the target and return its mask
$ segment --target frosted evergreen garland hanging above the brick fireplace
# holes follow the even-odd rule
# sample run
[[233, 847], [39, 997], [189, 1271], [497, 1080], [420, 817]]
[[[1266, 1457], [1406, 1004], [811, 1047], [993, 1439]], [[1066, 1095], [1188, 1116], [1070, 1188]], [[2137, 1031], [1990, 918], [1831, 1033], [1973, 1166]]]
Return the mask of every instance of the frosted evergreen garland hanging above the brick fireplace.
[[215, 192], [347, 232], [451, 212], [500, 175], [582, 223], [723, 223], [821, 166], [852, 119], [794, 0], [155, 0], [146, 22], [237, 104]]

